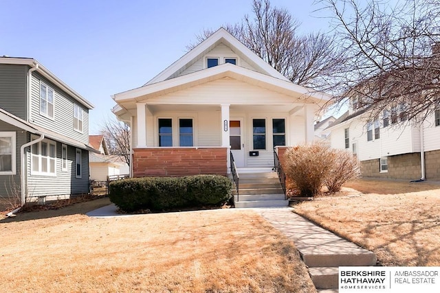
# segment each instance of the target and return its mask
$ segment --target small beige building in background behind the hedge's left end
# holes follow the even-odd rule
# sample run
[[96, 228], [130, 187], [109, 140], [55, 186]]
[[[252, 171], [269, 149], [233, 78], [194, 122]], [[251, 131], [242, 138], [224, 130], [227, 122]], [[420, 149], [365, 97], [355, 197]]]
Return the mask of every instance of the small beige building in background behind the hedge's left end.
[[109, 155], [102, 135], [90, 135], [90, 145], [100, 154], [89, 153], [90, 179], [107, 181], [107, 176], [129, 174], [129, 166], [119, 156]]

